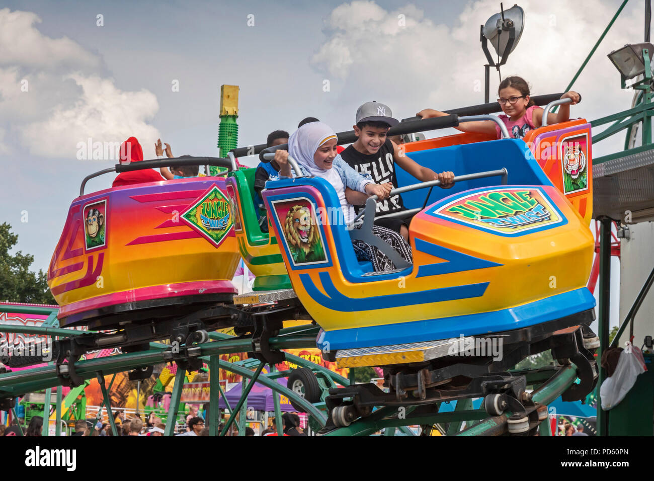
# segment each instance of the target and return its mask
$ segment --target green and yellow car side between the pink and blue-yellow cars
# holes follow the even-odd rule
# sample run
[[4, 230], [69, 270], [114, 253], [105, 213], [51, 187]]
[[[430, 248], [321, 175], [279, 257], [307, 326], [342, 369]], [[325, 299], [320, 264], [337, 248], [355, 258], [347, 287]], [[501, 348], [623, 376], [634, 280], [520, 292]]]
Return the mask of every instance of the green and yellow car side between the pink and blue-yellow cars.
[[290, 280], [286, 266], [279, 252], [277, 238], [273, 234], [262, 232], [258, 215], [252, 201], [254, 189], [254, 171], [230, 172], [227, 179], [227, 193], [235, 213], [234, 231], [236, 242], [248, 269], [256, 276], [252, 288], [254, 291], [289, 289]]

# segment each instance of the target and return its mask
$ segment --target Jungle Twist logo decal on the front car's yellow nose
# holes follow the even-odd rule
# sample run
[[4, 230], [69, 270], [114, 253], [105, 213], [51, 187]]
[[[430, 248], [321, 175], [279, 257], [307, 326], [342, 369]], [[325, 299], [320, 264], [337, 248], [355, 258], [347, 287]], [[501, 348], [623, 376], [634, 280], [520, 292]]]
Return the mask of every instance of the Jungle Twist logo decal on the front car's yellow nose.
[[477, 192], [438, 207], [434, 215], [509, 236], [564, 221], [545, 194], [530, 187]]

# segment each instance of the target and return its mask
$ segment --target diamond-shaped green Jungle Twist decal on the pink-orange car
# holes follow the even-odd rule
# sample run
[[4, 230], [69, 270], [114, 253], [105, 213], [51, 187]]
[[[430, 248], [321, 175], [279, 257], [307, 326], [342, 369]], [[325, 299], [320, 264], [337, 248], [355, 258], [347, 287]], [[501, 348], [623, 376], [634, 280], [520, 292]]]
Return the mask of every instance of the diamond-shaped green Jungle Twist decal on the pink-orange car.
[[181, 217], [215, 247], [227, 237], [234, 224], [230, 201], [216, 185], [202, 194]]

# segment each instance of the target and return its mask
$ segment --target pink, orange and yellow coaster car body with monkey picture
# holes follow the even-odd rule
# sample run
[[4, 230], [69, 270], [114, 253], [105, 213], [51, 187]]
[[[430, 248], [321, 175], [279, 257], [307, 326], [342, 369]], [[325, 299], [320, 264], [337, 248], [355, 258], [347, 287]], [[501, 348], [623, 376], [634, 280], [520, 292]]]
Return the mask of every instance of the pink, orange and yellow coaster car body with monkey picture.
[[[225, 180], [194, 177], [115, 187], [71, 205], [48, 285], [61, 325], [115, 306], [237, 293], [240, 256]], [[181, 301], [180, 301], [181, 302]], [[184, 302], [192, 302], [186, 299]]]

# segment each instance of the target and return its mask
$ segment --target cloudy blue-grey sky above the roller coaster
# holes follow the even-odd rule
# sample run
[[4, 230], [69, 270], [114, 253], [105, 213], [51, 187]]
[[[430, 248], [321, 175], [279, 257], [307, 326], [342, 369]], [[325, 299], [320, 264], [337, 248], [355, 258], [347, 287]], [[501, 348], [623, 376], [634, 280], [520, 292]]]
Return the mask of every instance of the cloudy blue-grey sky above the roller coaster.
[[[525, 30], [502, 76], [561, 92], [618, 0], [521, 1]], [[506, 4], [510, 6], [509, 3]], [[351, 129], [361, 103], [394, 116], [483, 103], [479, 26], [499, 2], [11, 1], [0, 9], [0, 222], [46, 270], [82, 179], [115, 164], [79, 160], [80, 143], [134, 135], [175, 155], [218, 156], [220, 85], [240, 86], [239, 145], [317, 116]], [[627, 4], [573, 86], [589, 120], [630, 107], [606, 55], [642, 41], [643, 3]], [[491, 71], [494, 98], [499, 82]], [[175, 85], [179, 88], [175, 89]], [[328, 86], [328, 88], [326, 88]], [[593, 146], [594, 156], [622, 139]], [[87, 192], [110, 187], [112, 175]]]

